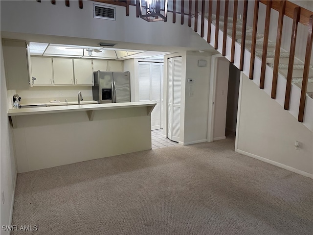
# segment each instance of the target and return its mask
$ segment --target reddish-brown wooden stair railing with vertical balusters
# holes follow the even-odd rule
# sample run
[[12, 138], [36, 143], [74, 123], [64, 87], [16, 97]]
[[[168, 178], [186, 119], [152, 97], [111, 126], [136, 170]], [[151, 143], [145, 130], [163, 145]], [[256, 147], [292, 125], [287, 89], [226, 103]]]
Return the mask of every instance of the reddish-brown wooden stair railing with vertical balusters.
[[[138, 0], [130, 1], [130, 0], [92, 0], [95, 2], [102, 2], [107, 4], [119, 5], [126, 7], [126, 15], [129, 16], [129, 6], [136, 6], [136, 17], [139, 17], [140, 8], [138, 8]], [[201, 1], [201, 2], [200, 2]], [[37, 2], [41, 2], [41, 0], [37, 0]], [[55, 0], [50, 1], [52, 4], [56, 4]], [[83, 1], [79, 0], [79, 8], [83, 8]], [[194, 8], [192, 7], [194, 3]], [[173, 0], [173, 23], [176, 23], [176, 14], [180, 14], [181, 20], [180, 24], [184, 24], [184, 16], [188, 16], [188, 26], [191, 27], [192, 17], [195, 16], [195, 24], [194, 30], [198, 31], [198, 14], [201, 14], [201, 37], [204, 35], [204, 15], [208, 13], [207, 21], [207, 38], [206, 41], [211, 43], [211, 24], [212, 21], [212, 3], [213, 0], [181, 0], [181, 9], [176, 9], [176, 0]], [[224, 27], [223, 27], [223, 49], [222, 54], [225, 56], [226, 54], [226, 39], [227, 39], [227, 28], [228, 28], [228, 11], [229, 11], [229, 1], [224, 0], [224, 16], [220, 15], [221, 8], [221, 0], [215, 0], [216, 2], [216, 15], [215, 15], [215, 41], [214, 48], [218, 48], [218, 37], [219, 37], [219, 26], [220, 19], [224, 17]], [[235, 43], [236, 43], [236, 29], [238, 26], [237, 22], [237, 14], [238, 14], [238, 0], [232, 1], [233, 4], [233, 19], [232, 19], [232, 37], [231, 37], [231, 55], [230, 62], [234, 63], [235, 56]], [[188, 3], [188, 6], [187, 4]], [[292, 71], [293, 71], [293, 62], [295, 56], [295, 45], [296, 45], [296, 34], [297, 34], [297, 26], [298, 23], [303, 24], [308, 27], [308, 39], [306, 45], [306, 54], [304, 61], [304, 71], [303, 71], [303, 80], [302, 80], [302, 88], [301, 88], [301, 97], [299, 104], [299, 114], [298, 121], [302, 122], [304, 118], [304, 110], [305, 110], [305, 100], [306, 100], [306, 92], [308, 86], [308, 78], [310, 71], [310, 59], [312, 54], [312, 27], [313, 27], [313, 12], [296, 5], [288, 0], [256, 0], [254, 5], [254, 15], [253, 15], [253, 25], [252, 25], [252, 40], [251, 40], [251, 58], [250, 58], [250, 68], [249, 68], [249, 78], [253, 79], [254, 72], [254, 61], [255, 61], [255, 49], [257, 46], [257, 22], [258, 22], [258, 14], [259, 14], [259, 4], [265, 4], [267, 6], [266, 10], [266, 19], [265, 19], [265, 30], [264, 30], [264, 42], [263, 42], [263, 51], [262, 51], [262, 64], [261, 64], [261, 78], [260, 78], [260, 88], [264, 88], [265, 81], [265, 72], [267, 65], [267, 50], [268, 50], [268, 29], [270, 25], [270, 10], [274, 9], [279, 12], [278, 17], [278, 26], [277, 26], [277, 37], [276, 37], [276, 46], [274, 52], [274, 65], [273, 65], [273, 78], [272, 78], [272, 87], [271, 87], [271, 98], [276, 98], [276, 90], [277, 90], [277, 78], [278, 78], [278, 70], [279, 70], [279, 59], [280, 59], [280, 46], [282, 41], [282, 28], [283, 28], [283, 19], [284, 16], [287, 16], [293, 19], [292, 26], [292, 35], [291, 35], [291, 47], [290, 47], [290, 56], [289, 56], [289, 64], [288, 64], [288, 74], [287, 74], [287, 85], [286, 85], [286, 93], [285, 93], [285, 104], [284, 108], [289, 109], [289, 103], [291, 98], [291, 83], [292, 83]], [[69, 1], [65, 0], [66, 6], [69, 6]], [[199, 9], [201, 6], [201, 9]], [[248, 9], [248, 1], [244, 1], [243, 7], [243, 22], [242, 22], [242, 34], [241, 34], [241, 51], [240, 51], [240, 70], [244, 69], [244, 56], [245, 56], [245, 44], [246, 44], [246, 19], [247, 19], [247, 9]], [[188, 14], [185, 14], [185, 10], [188, 9]], [[170, 11], [169, 11], [170, 12]], [[231, 14], [231, 13], [230, 13]], [[250, 14], [250, 13], [249, 13]], [[153, 23], [152, 23], [153, 24]], [[250, 35], [251, 36], [251, 35]]]

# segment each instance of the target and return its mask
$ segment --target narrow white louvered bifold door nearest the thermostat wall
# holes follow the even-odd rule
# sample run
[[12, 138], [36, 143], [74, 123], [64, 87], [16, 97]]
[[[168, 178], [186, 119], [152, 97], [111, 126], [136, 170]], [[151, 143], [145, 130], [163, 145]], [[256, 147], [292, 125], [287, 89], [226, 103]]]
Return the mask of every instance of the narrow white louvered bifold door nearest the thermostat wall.
[[167, 137], [179, 141], [180, 132], [181, 57], [168, 59]]

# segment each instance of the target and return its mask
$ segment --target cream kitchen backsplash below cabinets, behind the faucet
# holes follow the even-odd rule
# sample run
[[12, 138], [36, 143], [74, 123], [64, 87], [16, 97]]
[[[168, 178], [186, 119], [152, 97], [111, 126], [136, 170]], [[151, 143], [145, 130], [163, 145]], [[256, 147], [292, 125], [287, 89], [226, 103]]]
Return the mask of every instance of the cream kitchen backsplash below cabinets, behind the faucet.
[[[21, 104], [50, 102], [51, 100], [77, 101], [78, 92], [82, 93], [84, 100], [92, 100], [91, 86], [43, 86], [31, 87], [29, 90], [16, 90], [19, 94]], [[13, 99], [13, 96], [12, 96]]]

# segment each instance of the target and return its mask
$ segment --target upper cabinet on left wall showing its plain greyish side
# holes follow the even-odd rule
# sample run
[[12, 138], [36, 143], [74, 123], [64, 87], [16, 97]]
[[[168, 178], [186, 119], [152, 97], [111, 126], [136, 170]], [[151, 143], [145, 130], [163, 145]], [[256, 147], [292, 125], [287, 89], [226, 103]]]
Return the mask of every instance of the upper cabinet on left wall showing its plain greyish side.
[[30, 71], [25, 41], [2, 39], [3, 60], [8, 90], [28, 90]]

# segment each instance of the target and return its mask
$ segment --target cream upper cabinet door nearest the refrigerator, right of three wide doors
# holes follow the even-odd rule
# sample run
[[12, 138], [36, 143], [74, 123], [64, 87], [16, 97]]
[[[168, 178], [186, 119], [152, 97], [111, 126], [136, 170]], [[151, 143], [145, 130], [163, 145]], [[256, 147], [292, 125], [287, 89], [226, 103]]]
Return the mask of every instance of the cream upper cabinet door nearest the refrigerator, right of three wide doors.
[[75, 85], [93, 85], [92, 61], [73, 59]]

